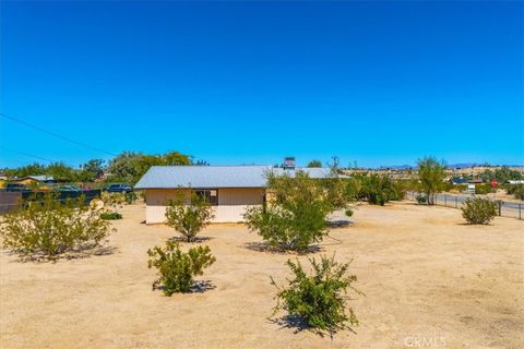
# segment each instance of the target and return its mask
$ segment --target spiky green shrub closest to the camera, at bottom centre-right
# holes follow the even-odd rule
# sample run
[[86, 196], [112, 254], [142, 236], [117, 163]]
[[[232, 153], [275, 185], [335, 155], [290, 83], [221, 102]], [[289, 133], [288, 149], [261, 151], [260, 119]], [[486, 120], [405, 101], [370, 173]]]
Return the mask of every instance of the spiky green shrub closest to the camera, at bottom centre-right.
[[288, 280], [288, 288], [278, 287], [271, 278], [272, 285], [278, 290], [274, 314], [284, 310], [291, 316], [302, 317], [309, 326], [319, 330], [335, 332], [347, 323], [358, 325], [353, 310], [349, 308], [346, 312], [348, 290], [361, 294], [353, 287], [357, 277], [347, 275], [349, 263], [338, 264], [334, 256], [321, 256], [320, 262], [309, 258], [309, 262], [311, 275], [303, 270], [299, 261], [287, 261], [294, 274], [294, 278]]

